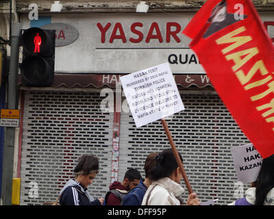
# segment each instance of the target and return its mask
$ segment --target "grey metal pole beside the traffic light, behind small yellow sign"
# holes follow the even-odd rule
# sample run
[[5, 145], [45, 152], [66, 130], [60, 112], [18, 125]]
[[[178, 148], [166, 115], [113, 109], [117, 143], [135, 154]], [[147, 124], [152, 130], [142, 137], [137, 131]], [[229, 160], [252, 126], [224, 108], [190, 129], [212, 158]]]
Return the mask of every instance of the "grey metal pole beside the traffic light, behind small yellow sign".
[[[21, 23], [12, 23], [10, 36], [10, 73], [8, 77], [7, 108], [15, 110], [17, 105], [18, 53]], [[3, 205], [12, 204], [12, 177], [14, 162], [15, 127], [5, 127], [5, 142], [3, 150], [2, 198]]]

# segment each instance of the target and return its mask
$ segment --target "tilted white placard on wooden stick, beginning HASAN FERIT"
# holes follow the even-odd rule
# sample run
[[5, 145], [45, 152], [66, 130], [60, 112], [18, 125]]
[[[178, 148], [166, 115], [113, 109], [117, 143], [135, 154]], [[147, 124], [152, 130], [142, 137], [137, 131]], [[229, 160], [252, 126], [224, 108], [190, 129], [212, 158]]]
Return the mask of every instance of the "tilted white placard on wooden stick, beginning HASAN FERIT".
[[184, 110], [169, 63], [120, 77], [136, 127]]

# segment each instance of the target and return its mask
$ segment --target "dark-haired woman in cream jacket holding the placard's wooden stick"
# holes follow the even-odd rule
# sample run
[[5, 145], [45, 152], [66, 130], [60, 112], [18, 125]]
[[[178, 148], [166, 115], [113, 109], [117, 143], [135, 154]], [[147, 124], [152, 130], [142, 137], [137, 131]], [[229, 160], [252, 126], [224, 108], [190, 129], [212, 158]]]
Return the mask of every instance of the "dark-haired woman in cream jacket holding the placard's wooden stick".
[[[182, 160], [182, 156], [179, 155]], [[156, 164], [151, 170], [151, 185], [147, 189], [142, 205], [181, 205], [179, 196], [184, 188], [179, 185], [182, 173], [171, 149], [166, 149], [155, 157]], [[195, 193], [188, 196], [186, 205], [200, 205]]]

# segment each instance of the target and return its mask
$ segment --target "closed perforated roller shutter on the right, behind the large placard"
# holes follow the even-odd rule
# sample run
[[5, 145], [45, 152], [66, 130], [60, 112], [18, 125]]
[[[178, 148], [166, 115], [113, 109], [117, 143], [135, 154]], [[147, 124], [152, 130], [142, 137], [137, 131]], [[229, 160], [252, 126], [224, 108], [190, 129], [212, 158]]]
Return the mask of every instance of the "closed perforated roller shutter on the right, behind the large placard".
[[[249, 143], [217, 95], [182, 95], [186, 110], [166, 120], [177, 151], [183, 157], [186, 174], [201, 201], [219, 198], [217, 204], [235, 201], [238, 180], [230, 148]], [[136, 128], [131, 114], [121, 114], [119, 179], [125, 171], [143, 170], [149, 153], [171, 148], [162, 123], [155, 121]], [[181, 181], [182, 186], [184, 180]], [[246, 189], [246, 188], [242, 188]], [[188, 191], [184, 192], [184, 200]]]

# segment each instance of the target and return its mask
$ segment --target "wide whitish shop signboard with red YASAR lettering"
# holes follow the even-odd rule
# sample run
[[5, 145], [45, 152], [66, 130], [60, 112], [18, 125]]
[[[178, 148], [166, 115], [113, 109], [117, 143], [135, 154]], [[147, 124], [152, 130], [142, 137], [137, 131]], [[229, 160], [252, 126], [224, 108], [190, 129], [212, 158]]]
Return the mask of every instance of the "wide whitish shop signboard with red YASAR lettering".
[[[205, 74], [188, 46], [190, 39], [182, 34], [190, 18], [184, 13], [97, 13], [53, 14], [48, 23], [42, 22], [42, 16], [38, 21], [43, 28], [50, 23], [66, 23], [79, 34], [73, 43], [55, 48], [55, 73], [128, 74], [169, 62], [173, 74]], [[32, 21], [26, 15], [22, 23], [26, 29]], [[56, 31], [56, 41], [76, 36], [74, 29], [72, 33], [62, 27]]]

